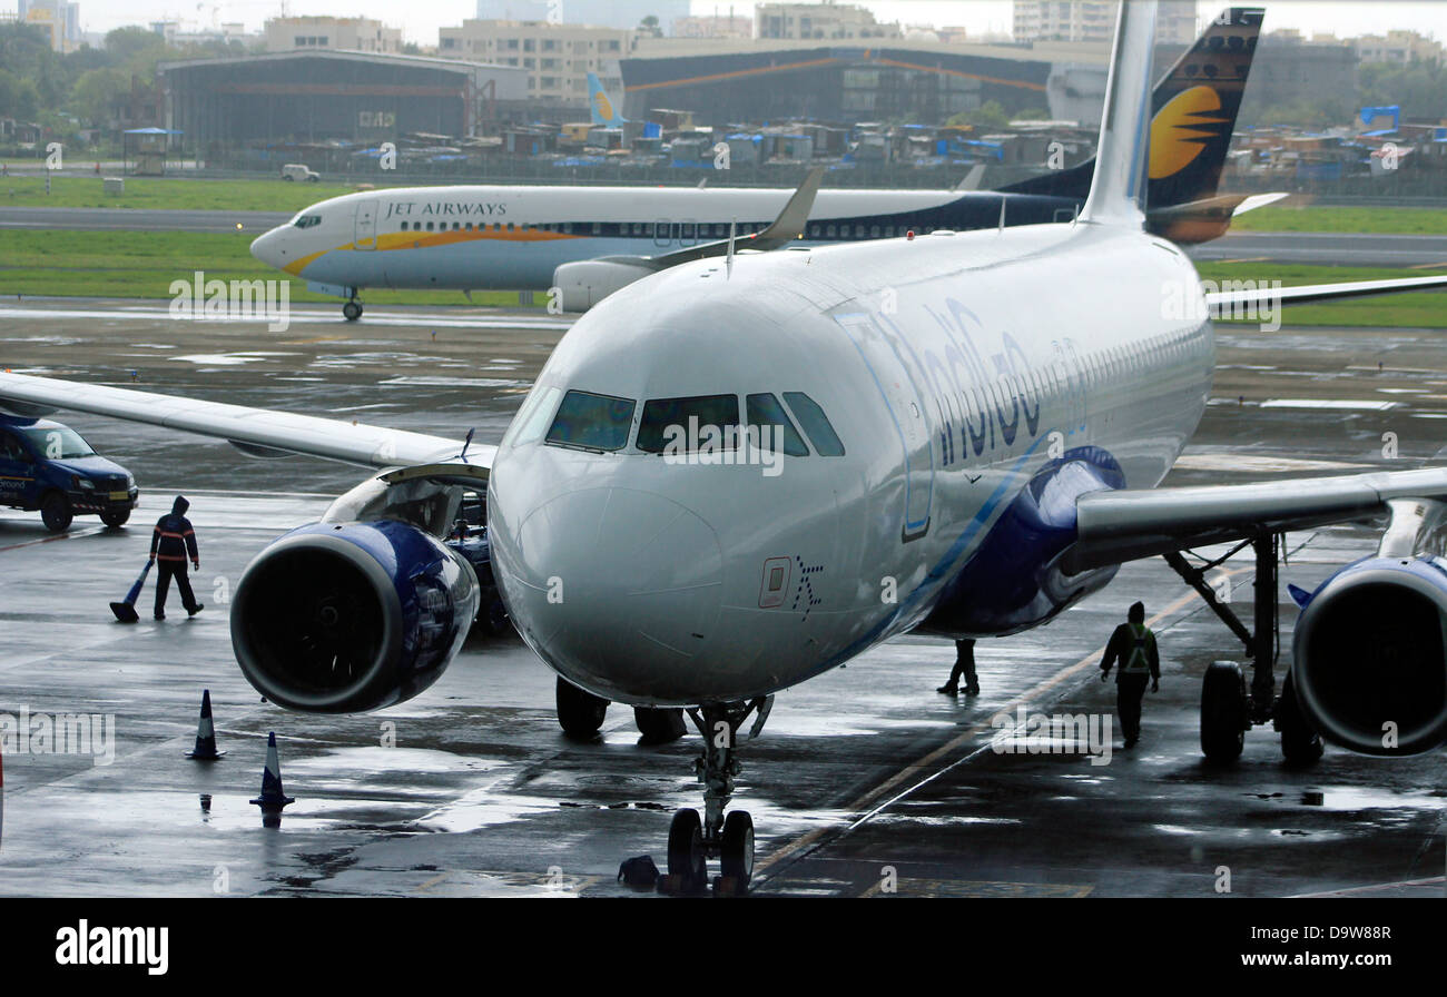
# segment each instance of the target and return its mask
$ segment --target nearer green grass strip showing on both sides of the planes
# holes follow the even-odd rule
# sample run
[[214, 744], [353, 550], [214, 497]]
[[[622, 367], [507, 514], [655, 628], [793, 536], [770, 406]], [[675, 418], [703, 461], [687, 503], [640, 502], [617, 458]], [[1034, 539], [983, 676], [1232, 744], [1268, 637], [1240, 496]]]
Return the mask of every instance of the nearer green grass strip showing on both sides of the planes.
[[[195, 271], [207, 278], [278, 278], [249, 252], [252, 233], [191, 232], [19, 232], [0, 230], [0, 297], [77, 295], [101, 298], [171, 298], [171, 282], [190, 281]], [[1331, 284], [1396, 276], [1430, 276], [1444, 271], [1395, 271], [1289, 263], [1201, 263], [1208, 281], [1272, 281]], [[473, 304], [515, 305], [511, 291], [473, 294]], [[537, 295], [541, 305], [543, 295]], [[337, 298], [307, 291], [291, 279], [291, 300], [298, 302]], [[368, 304], [464, 305], [460, 291], [366, 291]], [[1282, 311], [1288, 326], [1382, 326], [1447, 328], [1447, 291], [1418, 291], [1338, 304], [1299, 305]]]

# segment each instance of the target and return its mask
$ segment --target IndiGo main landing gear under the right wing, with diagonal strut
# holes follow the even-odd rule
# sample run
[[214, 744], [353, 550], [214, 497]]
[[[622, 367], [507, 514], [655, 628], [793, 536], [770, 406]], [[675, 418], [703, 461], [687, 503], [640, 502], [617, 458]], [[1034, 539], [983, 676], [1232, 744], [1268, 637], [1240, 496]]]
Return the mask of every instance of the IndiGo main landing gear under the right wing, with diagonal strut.
[[[1220, 567], [1237, 551], [1250, 547], [1256, 557], [1253, 587], [1255, 632], [1223, 602], [1205, 579], [1205, 573]], [[1197, 590], [1205, 605], [1246, 645], [1252, 658], [1252, 682], [1236, 661], [1214, 661], [1205, 670], [1201, 684], [1201, 752], [1208, 761], [1226, 764], [1240, 757], [1246, 745], [1246, 731], [1270, 722], [1281, 734], [1281, 752], [1292, 764], [1311, 764], [1321, 757], [1321, 735], [1302, 716], [1292, 690], [1291, 673], [1276, 695], [1275, 666], [1279, 656], [1278, 619], [1278, 557], [1281, 534], [1260, 534], [1237, 544], [1223, 557], [1201, 567], [1189, 564], [1179, 553], [1165, 554], [1166, 564]]]

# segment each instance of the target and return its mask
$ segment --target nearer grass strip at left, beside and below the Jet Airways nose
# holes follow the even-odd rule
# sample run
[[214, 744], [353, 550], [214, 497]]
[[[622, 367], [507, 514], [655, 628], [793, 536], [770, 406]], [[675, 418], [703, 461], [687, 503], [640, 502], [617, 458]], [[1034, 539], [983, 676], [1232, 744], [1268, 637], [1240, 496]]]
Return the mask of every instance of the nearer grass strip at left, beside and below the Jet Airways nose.
[[[287, 278], [297, 302], [340, 298], [313, 294], [307, 282], [256, 260], [255, 233], [201, 232], [17, 232], [0, 230], [0, 300], [14, 295], [165, 298], [171, 282], [195, 271], [223, 281]], [[366, 291], [368, 304], [466, 305], [462, 291]], [[541, 307], [543, 295], [538, 295]], [[475, 305], [517, 305], [515, 291], [479, 291]]]

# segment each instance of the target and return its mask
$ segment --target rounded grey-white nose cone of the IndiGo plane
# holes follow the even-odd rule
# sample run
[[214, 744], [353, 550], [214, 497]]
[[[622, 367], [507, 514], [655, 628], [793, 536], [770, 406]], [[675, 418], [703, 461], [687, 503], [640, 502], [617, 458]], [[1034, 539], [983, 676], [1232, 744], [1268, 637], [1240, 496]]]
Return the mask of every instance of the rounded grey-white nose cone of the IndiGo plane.
[[592, 488], [534, 509], [512, 553], [509, 608], [553, 667], [616, 699], [687, 699], [722, 595], [709, 524], [653, 492]]

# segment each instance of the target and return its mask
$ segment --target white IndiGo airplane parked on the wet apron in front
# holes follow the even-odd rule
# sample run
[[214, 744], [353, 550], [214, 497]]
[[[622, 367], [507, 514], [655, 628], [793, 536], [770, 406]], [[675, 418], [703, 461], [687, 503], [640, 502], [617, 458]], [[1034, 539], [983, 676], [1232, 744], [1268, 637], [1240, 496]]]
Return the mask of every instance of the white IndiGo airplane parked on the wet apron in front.
[[[495, 577], [560, 676], [564, 728], [596, 731], [619, 700], [642, 716], [683, 708], [703, 735], [705, 813], [679, 810], [669, 833], [684, 886], [712, 857], [737, 884], [752, 874], [752, 820], [725, 810], [738, 737], [750, 718], [760, 734], [777, 692], [907, 631], [1037, 627], [1120, 563], [1179, 563], [1201, 543], [1250, 543], [1260, 593], [1256, 632], [1234, 627], [1256, 656], [1250, 695], [1240, 666], [1205, 676], [1208, 755], [1233, 757], [1268, 719], [1297, 758], [1323, 735], [1379, 755], [1435, 748], [1447, 469], [1156, 488], [1207, 404], [1208, 307], [1269, 292], [1207, 295], [1145, 230], [1153, 13], [1123, 7], [1079, 219], [648, 276], [564, 334], [495, 447], [25, 375], [0, 375], [0, 405], [379, 469], [262, 550], [234, 590], [243, 673], [295, 710], [378, 709], [441, 676], [478, 602], [441, 537], [485, 486]], [[1447, 276], [1275, 294], [1427, 287]], [[1376, 556], [1292, 592], [1302, 614], [1275, 695], [1276, 537], [1376, 515], [1391, 518]]]

